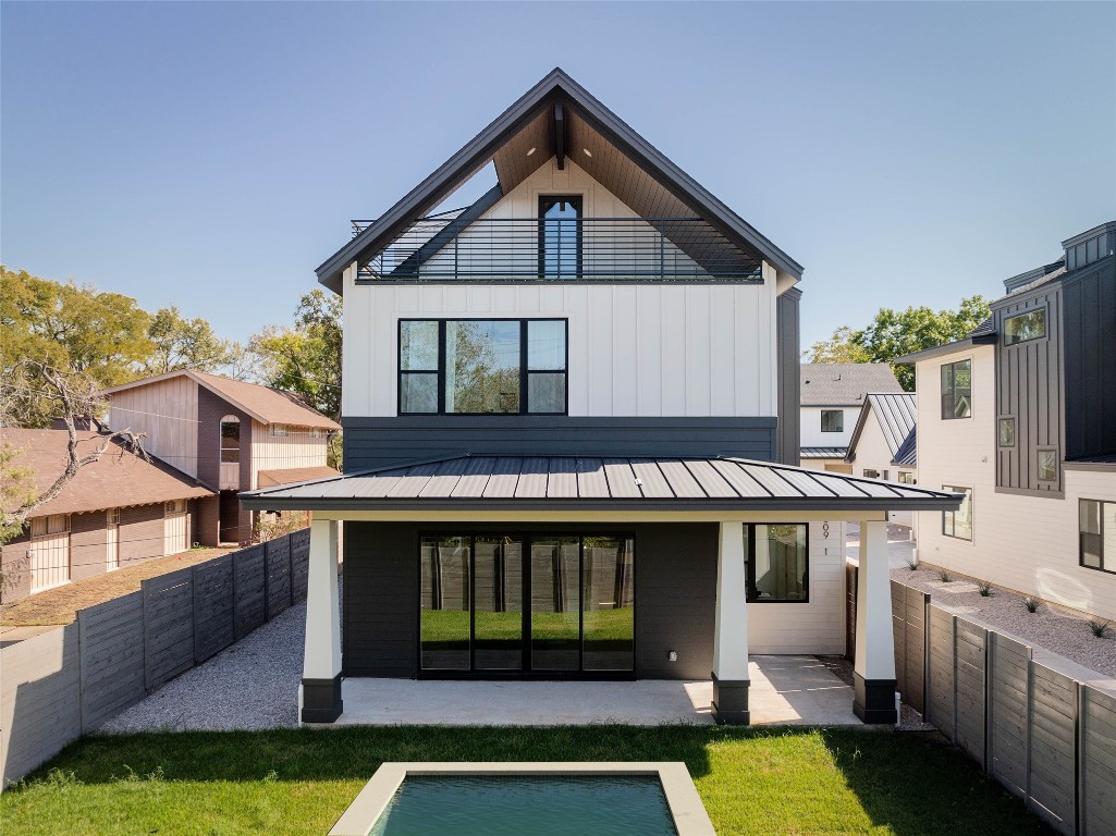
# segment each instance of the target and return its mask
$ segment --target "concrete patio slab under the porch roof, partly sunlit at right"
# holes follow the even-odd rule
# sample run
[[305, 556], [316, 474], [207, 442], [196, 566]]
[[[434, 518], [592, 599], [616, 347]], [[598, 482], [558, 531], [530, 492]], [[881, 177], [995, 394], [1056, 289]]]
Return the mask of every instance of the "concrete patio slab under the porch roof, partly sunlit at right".
[[[814, 656], [753, 656], [752, 724], [859, 726], [853, 690]], [[462, 682], [347, 679], [335, 726], [712, 723], [709, 681]]]

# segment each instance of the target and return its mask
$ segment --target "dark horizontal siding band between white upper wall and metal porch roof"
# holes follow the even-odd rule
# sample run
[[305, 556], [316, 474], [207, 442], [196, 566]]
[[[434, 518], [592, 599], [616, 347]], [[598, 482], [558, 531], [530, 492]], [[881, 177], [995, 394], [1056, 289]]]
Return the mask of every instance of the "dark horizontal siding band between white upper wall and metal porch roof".
[[777, 455], [773, 417], [432, 415], [350, 417], [343, 424], [346, 473], [465, 453], [737, 455], [759, 461], [775, 461]]

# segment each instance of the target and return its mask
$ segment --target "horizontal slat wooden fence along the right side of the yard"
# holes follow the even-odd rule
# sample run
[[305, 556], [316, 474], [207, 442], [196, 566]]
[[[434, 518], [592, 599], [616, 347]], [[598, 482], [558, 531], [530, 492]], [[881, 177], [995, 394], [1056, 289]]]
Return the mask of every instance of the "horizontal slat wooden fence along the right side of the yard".
[[923, 643], [926, 720], [1058, 833], [1116, 836], [1116, 694], [897, 582], [892, 626], [905, 702], [918, 696]]

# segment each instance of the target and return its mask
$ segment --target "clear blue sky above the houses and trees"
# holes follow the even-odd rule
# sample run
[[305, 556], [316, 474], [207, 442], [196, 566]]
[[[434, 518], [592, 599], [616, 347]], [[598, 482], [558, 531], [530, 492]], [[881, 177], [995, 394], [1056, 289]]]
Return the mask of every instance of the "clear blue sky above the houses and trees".
[[802, 344], [1116, 219], [1116, 3], [0, 7], [0, 258], [246, 338], [558, 65], [805, 265]]

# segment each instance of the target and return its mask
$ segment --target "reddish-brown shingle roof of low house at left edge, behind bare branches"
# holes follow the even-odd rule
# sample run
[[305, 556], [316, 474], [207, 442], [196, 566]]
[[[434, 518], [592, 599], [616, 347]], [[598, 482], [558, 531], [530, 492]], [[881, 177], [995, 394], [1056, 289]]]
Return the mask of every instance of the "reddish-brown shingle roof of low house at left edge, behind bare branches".
[[[66, 468], [69, 436], [65, 430], [3, 427], [0, 439], [19, 451], [16, 465], [31, 471], [40, 492], [54, 484]], [[98, 433], [78, 432], [78, 453], [88, 455], [102, 440]], [[33, 516], [84, 513], [211, 496], [213, 491], [182, 471], [154, 457], [146, 462], [114, 442], [97, 461], [78, 470], [62, 492], [37, 509]]]

